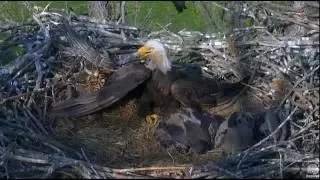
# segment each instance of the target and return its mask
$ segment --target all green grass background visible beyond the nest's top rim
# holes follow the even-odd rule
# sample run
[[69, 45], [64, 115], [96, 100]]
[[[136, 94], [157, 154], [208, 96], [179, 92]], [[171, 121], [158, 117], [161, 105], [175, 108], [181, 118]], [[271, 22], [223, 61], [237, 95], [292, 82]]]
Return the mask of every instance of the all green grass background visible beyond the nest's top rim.
[[[108, 1], [111, 6], [120, 1]], [[252, 2], [257, 4], [259, 2]], [[279, 1], [283, 4], [286, 1]], [[33, 12], [42, 10], [49, 4], [51, 10], [69, 9], [77, 14], [88, 13], [88, 1], [0, 1], [0, 21], [25, 23]], [[221, 6], [220, 6], [221, 5]], [[233, 1], [186, 1], [187, 9], [178, 13], [171, 1], [127, 1], [125, 23], [138, 28], [158, 31], [166, 27], [172, 32], [180, 30], [200, 32], [230, 32], [237, 23], [250, 26], [250, 20], [238, 22], [223, 10], [223, 7], [237, 8], [239, 3]], [[0, 32], [0, 42], [6, 39]], [[10, 48], [0, 51], [0, 66], [5, 65], [18, 55], [23, 54], [22, 48]]]

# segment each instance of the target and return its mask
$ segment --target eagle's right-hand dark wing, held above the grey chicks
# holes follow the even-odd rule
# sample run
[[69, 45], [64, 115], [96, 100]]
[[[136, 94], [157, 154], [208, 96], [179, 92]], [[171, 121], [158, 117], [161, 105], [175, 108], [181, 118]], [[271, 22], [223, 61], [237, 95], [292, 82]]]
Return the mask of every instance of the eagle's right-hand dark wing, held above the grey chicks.
[[[188, 69], [190, 71], [192, 69]], [[189, 73], [190, 72], [186, 72]], [[221, 102], [228, 101], [238, 95], [245, 87], [250, 77], [245, 77], [237, 83], [221, 83], [215, 79], [204, 77], [201, 73], [193, 73], [192, 76], [181, 76], [171, 85], [172, 96], [185, 107], [197, 107], [210, 104], [217, 106]]]

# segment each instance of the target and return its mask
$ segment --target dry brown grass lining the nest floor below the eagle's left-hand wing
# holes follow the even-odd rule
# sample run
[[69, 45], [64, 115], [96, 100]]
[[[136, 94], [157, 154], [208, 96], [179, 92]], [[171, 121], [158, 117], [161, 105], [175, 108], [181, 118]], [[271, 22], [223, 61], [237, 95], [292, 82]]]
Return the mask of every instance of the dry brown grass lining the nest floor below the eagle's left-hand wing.
[[138, 117], [136, 107], [137, 100], [128, 99], [95, 115], [58, 119], [55, 131], [71, 147], [94, 154], [90, 162], [114, 168], [191, 166], [221, 159], [219, 151], [186, 156], [174, 149], [164, 149], [153, 135], [157, 124]]

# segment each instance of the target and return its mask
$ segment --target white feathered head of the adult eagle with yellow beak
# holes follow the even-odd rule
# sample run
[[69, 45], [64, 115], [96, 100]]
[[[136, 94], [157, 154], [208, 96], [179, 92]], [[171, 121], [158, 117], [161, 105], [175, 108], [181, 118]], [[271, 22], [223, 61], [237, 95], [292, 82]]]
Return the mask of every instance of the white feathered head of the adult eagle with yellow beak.
[[153, 70], [159, 69], [167, 74], [171, 70], [171, 62], [168, 59], [167, 51], [164, 45], [157, 40], [147, 41], [143, 47], [138, 50], [138, 56], [147, 61], [146, 67]]

